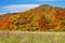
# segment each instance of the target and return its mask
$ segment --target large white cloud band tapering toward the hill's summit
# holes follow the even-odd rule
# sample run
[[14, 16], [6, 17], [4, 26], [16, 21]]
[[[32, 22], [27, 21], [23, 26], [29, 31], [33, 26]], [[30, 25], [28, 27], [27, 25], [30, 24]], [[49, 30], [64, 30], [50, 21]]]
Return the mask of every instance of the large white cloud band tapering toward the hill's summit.
[[13, 4], [13, 5], [6, 5], [6, 6], [1, 8], [0, 14], [24, 12], [24, 11], [34, 9], [36, 6], [39, 6], [39, 4]]

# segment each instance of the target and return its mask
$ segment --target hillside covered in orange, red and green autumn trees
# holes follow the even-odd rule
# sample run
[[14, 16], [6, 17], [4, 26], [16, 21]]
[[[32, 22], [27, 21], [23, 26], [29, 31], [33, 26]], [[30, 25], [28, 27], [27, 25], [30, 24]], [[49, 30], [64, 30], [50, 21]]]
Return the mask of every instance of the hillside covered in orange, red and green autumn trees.
[[48, 4], [0, 15], [0, 30], [65, 31], [65, 9]]

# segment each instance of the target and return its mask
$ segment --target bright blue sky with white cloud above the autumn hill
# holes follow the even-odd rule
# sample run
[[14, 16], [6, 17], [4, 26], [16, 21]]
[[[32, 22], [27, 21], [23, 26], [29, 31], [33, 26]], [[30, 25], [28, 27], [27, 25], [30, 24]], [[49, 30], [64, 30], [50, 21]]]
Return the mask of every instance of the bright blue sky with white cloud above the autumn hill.
[[0, 15], [24, 12], [41, 4], [65, 8], [65, 0], [0, 0]]

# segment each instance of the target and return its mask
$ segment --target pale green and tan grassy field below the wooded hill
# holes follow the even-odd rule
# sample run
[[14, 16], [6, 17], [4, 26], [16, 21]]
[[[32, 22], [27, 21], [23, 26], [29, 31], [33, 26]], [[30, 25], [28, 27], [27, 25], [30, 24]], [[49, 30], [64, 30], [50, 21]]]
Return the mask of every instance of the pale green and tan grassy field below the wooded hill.
[[0, 31], [0, 43], [65, 43], [65, 32]]

